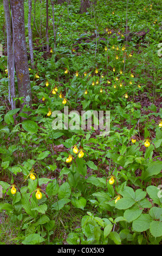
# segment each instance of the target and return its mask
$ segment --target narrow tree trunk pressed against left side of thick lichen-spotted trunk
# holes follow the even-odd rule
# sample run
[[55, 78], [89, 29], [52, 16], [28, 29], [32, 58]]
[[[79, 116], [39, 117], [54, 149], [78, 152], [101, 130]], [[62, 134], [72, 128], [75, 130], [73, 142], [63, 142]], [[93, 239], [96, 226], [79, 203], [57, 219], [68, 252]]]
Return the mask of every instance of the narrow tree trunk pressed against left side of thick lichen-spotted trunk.
[[15, 98], [15, 64], [14, 64], [14, 38], [12, 40], [11, 18], [9, 1], [3, 0], [6, 31], [7, 31], [7, 52], [8, 52], [8, 78], [9, 78], [9, 102], [11, 109], [16, 108]]

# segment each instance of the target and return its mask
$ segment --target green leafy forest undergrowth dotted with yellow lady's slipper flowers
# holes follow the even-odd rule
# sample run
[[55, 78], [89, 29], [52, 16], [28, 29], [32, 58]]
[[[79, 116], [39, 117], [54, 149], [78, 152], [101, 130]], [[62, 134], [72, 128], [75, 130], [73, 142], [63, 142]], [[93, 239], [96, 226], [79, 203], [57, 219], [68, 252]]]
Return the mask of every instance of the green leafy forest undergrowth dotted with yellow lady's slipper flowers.
[[[46, 3], [36, 9], [42, 40], [34, 27], [30, 114], [20, 112], [18, 95], [10, 109], [1, 57], [1, 243], [160, 244], [160, 1], [99, 1], [82, 15], [79, 1], [66, 5], [54, 5], [56, 48], [49, 8], [49, 54], [41, 48]], [[109, 135], [54, 130], [52, 113], [64, 107], [80, 117], [110, 111]]]

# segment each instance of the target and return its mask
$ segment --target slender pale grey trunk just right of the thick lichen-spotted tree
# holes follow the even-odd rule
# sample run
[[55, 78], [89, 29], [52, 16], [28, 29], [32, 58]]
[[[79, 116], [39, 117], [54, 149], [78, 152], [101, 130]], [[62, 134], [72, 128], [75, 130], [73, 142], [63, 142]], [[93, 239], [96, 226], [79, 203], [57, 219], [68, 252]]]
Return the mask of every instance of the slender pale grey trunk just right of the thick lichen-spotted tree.
[[31, 60], [31, 68], [34, 69], [34, 57], [33, 57], [33, 35], [31, 31], [31, 10], [32, 10], [32, 0], [28, 0], [28, 38], [29, 38], [29, 51], [30, 51], [30, 60]]

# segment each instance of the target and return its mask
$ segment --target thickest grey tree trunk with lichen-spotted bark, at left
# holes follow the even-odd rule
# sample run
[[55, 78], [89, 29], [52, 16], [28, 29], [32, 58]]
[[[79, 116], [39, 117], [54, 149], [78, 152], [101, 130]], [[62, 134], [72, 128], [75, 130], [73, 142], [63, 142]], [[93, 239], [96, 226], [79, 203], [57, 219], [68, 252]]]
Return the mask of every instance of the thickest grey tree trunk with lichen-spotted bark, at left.
[[24, 26], [24, 0], [11, 0], [12, 35], [14, 38], [15, 69], [17, 76], [18, 94], [23, 98], [21, 109], [24, 105], [31, 106], [31, 87], [29, 77], [29, 66], [27, 56], [27, 45], [25, 42]]

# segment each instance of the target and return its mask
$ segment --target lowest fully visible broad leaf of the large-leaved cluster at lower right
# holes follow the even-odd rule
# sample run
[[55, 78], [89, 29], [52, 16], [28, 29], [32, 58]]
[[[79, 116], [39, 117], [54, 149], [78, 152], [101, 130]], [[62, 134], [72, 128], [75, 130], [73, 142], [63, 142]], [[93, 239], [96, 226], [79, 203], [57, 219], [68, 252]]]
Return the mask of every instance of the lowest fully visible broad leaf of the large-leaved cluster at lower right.
[[143, 232], [150, 228], [152, 221], [153, 219], [149, 214], [141, 214], [135, 221], [133, 221], [132, 227], [137, 232]]

